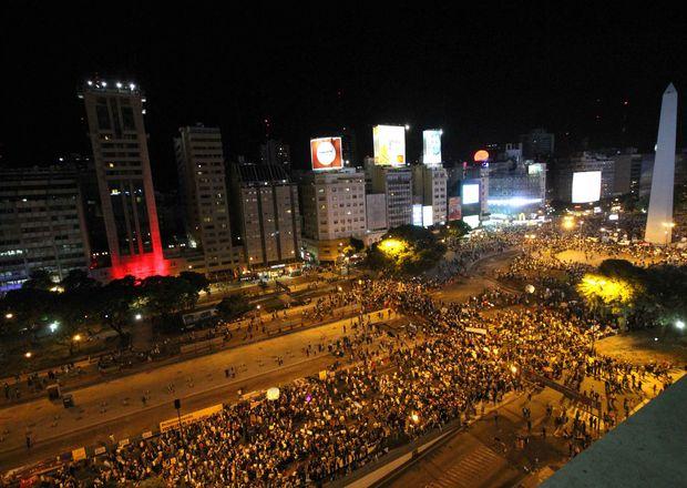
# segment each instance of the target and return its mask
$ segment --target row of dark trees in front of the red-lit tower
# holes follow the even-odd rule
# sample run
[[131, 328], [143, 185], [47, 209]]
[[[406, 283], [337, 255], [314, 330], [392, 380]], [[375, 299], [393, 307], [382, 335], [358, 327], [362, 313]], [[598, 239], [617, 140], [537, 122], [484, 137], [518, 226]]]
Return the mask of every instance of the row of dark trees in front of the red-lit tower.
[[192, 272], [140, 281], [125, 276], [102, 285], [81, 270], [55, 284], [40, 270], [0, 301], [0, 331], [4, 335], [28, 332], [34, 339], [49, 331], [72, 350], [75, 334], [92, 324], [107, 325], [123, 338], [136, 314], [164, 317], [193, 308], [202, 291], [209, 291], [207, 278]]

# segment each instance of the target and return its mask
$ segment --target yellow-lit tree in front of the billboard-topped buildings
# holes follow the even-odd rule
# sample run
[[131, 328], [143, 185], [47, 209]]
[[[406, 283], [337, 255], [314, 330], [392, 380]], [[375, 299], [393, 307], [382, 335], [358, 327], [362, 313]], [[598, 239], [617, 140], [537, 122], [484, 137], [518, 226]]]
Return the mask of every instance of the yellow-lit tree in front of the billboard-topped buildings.
[[424, 227], [402, 225], [384, 234], [368, 251], [372, 270], [400, 275], [418, 275], [431, 270], [443, 256], [445, 246]]

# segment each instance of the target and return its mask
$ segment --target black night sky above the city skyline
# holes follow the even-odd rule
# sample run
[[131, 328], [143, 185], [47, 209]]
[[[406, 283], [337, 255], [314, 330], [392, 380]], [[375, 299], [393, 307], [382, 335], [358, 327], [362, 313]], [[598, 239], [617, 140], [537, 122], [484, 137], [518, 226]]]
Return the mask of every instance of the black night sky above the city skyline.
[[296, 167], [309, 163], [310, 136], [342, 126], [356, 132], [359, 155], [370, 154], [376, 123], [411, 125], [410, 160], [427, 128], [444, 130], [447, 160], [535, 126], [561, 145], [568, 133], [571, 146], [586, 138], [591, 146], [647, 150], [666, 85], [683, 96], [687, 87], [684, 8], [366, 3], [375, 7], [3, 2], [3, 161], [45, 164], [86, 152], [76, 88], [92, 73], [145, 90], [162, 187], [175, 185], [172, 138], [195, 122], [222, 128], [228, 157], [254, 159], [269, 119]]

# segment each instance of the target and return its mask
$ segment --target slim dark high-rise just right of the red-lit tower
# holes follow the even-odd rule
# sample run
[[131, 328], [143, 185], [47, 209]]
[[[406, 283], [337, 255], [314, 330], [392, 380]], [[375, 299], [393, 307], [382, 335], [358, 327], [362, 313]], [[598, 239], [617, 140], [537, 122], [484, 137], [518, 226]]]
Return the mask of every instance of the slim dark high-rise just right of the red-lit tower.
[[219, 129], [181, 128], [180, 136], [174, 140], [174, 150], [188, 243], [192, 248], [202, 250], [208, 277], [233, 275], [239, 256], [232, 246]]

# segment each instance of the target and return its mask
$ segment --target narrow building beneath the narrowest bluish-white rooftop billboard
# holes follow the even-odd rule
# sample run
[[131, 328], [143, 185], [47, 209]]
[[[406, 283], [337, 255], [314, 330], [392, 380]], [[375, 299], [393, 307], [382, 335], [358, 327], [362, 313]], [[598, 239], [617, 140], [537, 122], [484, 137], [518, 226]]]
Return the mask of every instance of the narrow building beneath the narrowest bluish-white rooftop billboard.
[[[422, 205], [422, 224], [430, 226], [447, 222], [447, 170], [442, 166], [412, 166], [412, 187], [417, 203]], [[427, 207], [428, 210], [425, 212]], [[431, 216], [429, 216], [431, 213]], [[427, 218], [429, 216], [429, 218]]]

